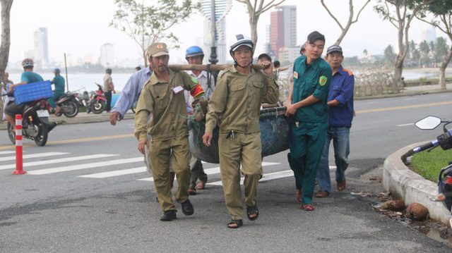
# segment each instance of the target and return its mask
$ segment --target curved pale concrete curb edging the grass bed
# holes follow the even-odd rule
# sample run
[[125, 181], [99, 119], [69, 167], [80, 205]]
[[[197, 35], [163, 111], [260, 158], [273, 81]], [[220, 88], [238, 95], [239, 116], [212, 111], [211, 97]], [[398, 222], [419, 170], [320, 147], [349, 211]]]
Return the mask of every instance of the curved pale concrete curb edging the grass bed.
[[449, 226], [451, 213], [444, 208], [441, 202], [429, 200], [438, 194], [436, 184], [411, 171], [401, 159], [405, 152], [420, 144], [424, 144], [424, 142], [399, 149], [386, 158], [383, 166], [383, 187], [391, 194], [403, 199], [406, 206], [415, 202], [423, 204], [429, 209], [430, 218]]

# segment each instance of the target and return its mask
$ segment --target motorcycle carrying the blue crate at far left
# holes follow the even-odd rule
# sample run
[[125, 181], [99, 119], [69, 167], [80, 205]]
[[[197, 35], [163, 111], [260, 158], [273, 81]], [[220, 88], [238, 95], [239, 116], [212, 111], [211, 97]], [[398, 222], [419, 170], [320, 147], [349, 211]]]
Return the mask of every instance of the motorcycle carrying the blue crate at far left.
[[[46, 99], [37, 99], [25, 106], [22, 113], [22, 137], [34, 140], [40, 147], [47, 143], [49, 132], [57, 126], [57, 123], [49, 124], [47, 106]], [[8, 137], [13, 144], [16, 143], [16, 130], [10, 123]]]

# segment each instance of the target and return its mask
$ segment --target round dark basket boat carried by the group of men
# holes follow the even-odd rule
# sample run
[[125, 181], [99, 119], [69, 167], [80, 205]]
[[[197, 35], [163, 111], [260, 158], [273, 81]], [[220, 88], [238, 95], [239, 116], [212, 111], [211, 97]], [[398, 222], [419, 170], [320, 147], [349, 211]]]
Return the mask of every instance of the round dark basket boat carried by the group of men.
[[[282, 152], [289, 148], [289, 121], [285, 107], [261, 109], [259, 127], [261, 128], [262, 157]], [[204, 123], [189, 121], [189, 144], [191, 154], [208, 163], [219, 163], [218, 127], [213, 130], [210, 147], [203, 144], [206, 130]]]

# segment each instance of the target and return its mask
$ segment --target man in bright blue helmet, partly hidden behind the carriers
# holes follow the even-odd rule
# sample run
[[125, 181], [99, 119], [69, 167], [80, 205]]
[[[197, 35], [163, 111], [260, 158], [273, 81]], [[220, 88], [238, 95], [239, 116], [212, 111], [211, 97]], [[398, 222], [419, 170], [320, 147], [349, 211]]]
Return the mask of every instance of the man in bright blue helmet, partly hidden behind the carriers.
[[[201, 47], [198, 46], [189, 47], [188, 49], [186, 49], [185, 58], [186, 61], [189, 62], [189, 64], [201, 65], [203, 64], [204, 51], [203, 49], [201, 49]], [[191, 78], [198, 80], [204, 92], [206, 92], [204, 94], [204, 97], [209, 100], [210, 97], [212, 97], [213, 89], [215, 89], [215, 79], [213, 78], [213, 75], [210, 75], [210, 73], [207, 73], [204, 70], [188, 70], [186, 71], [186, 73], [188, 73]], [[185, 101], [188, 101], [189, 104], [192, 104], [194, 101], [193, 97], [190, 96], [190, 92], [188, 91], [185, 91]], [[189, 111], [189, 114], [193, 113], [192, 108], [189, 108], [187, 110]], [[201, 159], [197, 159], [194, 155], [191, 155], [190, 169], [191, 183], [189, 187], [189, 194], [196, 195], [196, 190], [203, 190], [206, 187], [207, 174], [204, 172]], [[199, 183], [196, 185], [196, 180], [198, 179]]]

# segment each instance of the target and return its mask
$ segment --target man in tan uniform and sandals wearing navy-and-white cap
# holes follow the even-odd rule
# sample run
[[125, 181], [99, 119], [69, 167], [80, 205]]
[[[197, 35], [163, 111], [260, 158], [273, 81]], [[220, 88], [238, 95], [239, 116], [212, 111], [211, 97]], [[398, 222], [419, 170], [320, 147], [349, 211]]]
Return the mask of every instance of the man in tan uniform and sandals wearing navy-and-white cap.
[[246, 213], [251, 221], [258, 218], [255, 197], [262, 161], [259, 112], [262, 99], [276, 104], [279, 97], [271, 62], [262, 63], [267, 67], [263, 71], [251, 68], [254, 43], [243, 35], [236, 37], [237, 42], [230, 49], [234, 66], [218, 76], [203, 135], [203, 143], [210, 146], [213, 128], [220, 126], [220, 173], [227, 210], [232, 216], [228, 228], [239, 228], [243, 224], [240, 163], [245, 176]]

